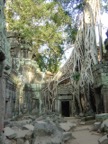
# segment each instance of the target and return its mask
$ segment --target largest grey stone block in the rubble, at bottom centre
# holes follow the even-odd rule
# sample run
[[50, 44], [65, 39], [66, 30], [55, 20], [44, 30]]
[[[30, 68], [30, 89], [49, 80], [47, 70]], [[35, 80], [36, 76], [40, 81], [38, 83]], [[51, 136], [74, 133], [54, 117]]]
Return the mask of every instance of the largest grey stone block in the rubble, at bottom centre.
[[33, 144], [62, 144], [63, 133], [53, 122], [38, 121], [34, 129]]

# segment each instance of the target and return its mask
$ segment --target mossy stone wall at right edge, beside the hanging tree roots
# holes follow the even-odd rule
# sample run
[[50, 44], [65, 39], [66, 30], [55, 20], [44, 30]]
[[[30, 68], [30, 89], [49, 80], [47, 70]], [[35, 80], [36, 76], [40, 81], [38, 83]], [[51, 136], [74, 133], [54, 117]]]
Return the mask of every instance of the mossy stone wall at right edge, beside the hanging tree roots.
[[97, 113], [104, 106], [104, 112], [108, 112], [108, 61], [99, 63], [93, 68], [94, 88]]

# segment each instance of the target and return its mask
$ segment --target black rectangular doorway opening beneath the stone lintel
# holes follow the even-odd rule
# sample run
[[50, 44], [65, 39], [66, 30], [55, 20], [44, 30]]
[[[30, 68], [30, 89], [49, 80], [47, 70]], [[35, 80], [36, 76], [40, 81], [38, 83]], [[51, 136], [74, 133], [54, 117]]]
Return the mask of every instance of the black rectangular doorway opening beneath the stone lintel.
[[62, 116], [70, 117], [69, 101], [61, 102], [61, 112], [62, 112]]

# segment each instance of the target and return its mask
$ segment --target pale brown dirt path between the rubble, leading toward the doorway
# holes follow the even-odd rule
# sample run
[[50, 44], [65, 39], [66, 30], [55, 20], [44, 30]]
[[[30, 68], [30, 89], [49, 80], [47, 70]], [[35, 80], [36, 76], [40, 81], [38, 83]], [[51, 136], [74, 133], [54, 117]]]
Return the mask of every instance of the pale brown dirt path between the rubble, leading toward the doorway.
[[[78, 119], [66, 118], [70, 122], [78, 124]], [[73, 138], [66, 144], [98, 144], [98, 139], [102, 136], [100, 133], [91, 131], [93, 123], [77, 125], [72, 131]]]

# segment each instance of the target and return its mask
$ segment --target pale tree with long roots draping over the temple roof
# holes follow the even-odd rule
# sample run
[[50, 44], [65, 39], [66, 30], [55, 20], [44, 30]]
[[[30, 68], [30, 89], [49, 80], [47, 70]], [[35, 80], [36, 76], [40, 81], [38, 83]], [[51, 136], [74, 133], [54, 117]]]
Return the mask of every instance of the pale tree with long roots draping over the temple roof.
[[[73, 88], [73, 99], [77, 100], [80, 112], [82, 112], [80, 94], [84, 94], [86, 104], [89, 103], [90, 106], [90, 85], [94, 81], [92, 67], [98, 63], [95, 26], [99, 25], [100, 1], [84, 0], [80, 2], [83, 2], [80, 5], [82, 14], [79, 14], [81, 18], [77, 25], [78, 33], [74, 43], [74, 50], [62, 68], [61, 73], [63, 80], [67, 77], [70, 78]], [[76, 74], [78, 74], [77, 79]], [[57, 86], [53, 88], [49, 86], [48, 89], [51, 93], [54, 93]]]

